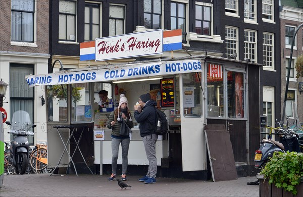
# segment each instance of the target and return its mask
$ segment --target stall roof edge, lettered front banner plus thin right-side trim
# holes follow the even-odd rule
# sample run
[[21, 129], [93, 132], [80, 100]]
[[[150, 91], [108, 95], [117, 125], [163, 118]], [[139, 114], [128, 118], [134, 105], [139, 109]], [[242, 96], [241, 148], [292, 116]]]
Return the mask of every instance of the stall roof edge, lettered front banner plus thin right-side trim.
[[262, 66], [261, 64], [215, 56], [188, 56], [63, 70], [49, 74], [29, 75], [26, 77], [26, 81], [30, 87], [34, 87], [36, 85], [61, 85], [84, 82], [119, 81], [135, 78], [153, 78], [156, 76], [179, 73], [200, 72], [203, 69], [202, 63], [205, 61], [234, 62], [252, 66]]

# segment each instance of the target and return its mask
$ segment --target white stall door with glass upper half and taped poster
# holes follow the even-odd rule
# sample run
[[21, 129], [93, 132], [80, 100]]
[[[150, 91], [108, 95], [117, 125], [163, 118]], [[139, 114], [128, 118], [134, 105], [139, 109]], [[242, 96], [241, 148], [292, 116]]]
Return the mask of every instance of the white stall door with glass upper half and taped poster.
[[201, 72], [180, 75], [180, 116], [183, 171], [206, 170]]

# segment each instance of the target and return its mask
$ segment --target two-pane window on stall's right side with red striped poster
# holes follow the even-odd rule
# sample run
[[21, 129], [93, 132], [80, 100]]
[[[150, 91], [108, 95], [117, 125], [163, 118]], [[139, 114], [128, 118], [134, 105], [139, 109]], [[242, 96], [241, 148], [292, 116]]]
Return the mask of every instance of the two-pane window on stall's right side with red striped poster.
[[[223, 70], [219, 64], [207, 68], [207, 115], [209, 117], [245, 117], [245, 73]], [[225, 82], [226, 81], [226, 82]]]

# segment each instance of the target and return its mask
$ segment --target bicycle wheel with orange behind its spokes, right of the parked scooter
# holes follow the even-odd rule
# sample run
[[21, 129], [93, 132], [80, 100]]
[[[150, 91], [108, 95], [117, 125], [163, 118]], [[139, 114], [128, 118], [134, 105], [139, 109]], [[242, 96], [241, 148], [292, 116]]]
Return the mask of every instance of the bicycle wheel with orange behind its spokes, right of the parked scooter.
[[36, 173], [38, 173], [38, 171], [47, 168], [48, 165], [47, 149], [39, 148], [34, 150], [30, 156], [29, 161], [30, 161], [30, 167]]

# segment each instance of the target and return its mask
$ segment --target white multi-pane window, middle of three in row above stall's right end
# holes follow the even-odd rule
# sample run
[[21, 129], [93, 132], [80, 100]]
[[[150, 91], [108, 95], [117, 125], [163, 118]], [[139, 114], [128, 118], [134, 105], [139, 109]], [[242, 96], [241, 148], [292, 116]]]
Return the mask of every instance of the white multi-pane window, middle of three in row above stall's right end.
[[257, 62], [257, 38], [256, 31], [245, 30], [244, 31], [244, 50], [245, 59], [249, 59], [251, 62]]

